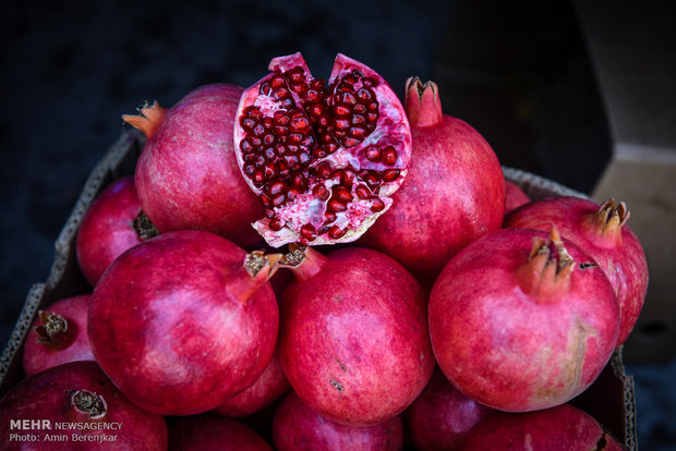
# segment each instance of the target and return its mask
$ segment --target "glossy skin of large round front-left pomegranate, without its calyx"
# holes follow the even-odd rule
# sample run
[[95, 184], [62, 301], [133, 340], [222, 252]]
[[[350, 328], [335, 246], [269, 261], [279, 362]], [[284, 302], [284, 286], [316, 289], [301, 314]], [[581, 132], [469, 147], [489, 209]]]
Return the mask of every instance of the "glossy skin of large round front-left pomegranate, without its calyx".
[[277, 341], [269, 283], [245, 303], [227, 290], [245, 252], [203, 231], [173, 231], [122, 254], [92, 297], [88, 333], [104, 371], [165, 415], [216, 407], [264, 371]]

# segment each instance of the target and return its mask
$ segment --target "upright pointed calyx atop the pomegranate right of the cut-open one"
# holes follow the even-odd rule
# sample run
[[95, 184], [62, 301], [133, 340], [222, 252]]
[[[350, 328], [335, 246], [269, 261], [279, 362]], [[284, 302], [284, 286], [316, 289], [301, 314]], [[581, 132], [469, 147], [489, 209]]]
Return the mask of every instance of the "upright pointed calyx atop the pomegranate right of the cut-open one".
[[444, 119], [439, 89], [432, 81], [423, 85], [419, 77], [409, 77], [403, 103], [411, 125], [436, 125]]

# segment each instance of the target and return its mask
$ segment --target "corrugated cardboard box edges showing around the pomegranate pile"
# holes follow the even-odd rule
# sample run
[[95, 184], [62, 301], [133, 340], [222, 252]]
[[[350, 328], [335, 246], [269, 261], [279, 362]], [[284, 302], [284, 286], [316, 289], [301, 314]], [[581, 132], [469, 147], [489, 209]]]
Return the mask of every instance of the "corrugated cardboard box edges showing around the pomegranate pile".
[[[75, 257], [75, 237], [81, 220], [96, 196], [113, 180], [132, 174], [143, 146], [143, 136], [129, 131], [110, 147], [89, 175], [82, 195], [56, 243], [55, 261], [47, 281], [36, 283], [28, 292], [24, 308], [16, 321], [0, 358], [0, 395], [22, 378], [21, 350], [31, 332], [38, 309], [52, 302], [90, 291]], [[531, 198], [551, 195], [583, 194], [529, 172], [504, 168], [505, 175], [519, 183]], [[599, 379], [572, 404], [594, 416], [627, 450], [636, 450], [636, 402], [633, 378], [625, 374], [621, 349], [616, 351]]]

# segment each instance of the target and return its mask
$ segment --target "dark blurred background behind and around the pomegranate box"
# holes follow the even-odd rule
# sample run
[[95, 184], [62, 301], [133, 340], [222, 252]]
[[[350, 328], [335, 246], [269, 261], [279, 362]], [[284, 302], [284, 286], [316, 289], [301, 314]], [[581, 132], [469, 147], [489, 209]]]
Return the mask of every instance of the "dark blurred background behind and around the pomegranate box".
[[[337, 52], [378, 71], [402, 96], [435, 80], [504, 164], [590, 192], [611, 156], [576, 12], [567, 1], [4, 2], [0, 19], [0, 341], [94, 166], [146, 100], [170, 107], [215, 82], [262, 77], [302, 51], [316, 76]], [[666, 398], [674, 365], [637, 376], [639, 443], [676, 444]], [[671, 373], [668, 373], [671, 371]], [[660, 386], [660, 383], [663, 383]]]

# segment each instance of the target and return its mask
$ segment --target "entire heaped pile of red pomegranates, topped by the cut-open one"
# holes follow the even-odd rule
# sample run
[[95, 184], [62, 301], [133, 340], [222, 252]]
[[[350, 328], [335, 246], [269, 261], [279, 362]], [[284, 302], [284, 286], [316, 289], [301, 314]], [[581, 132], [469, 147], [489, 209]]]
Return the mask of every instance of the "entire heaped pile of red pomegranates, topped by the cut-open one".
[[40, 312], [0, 428], [116, 420], [129, 449], [620, 449], [568, 402], [645, 296], [624, 203], [529, 198], [436, 84], [409, 78], [400, 102], [342, 54], [327, 81], [295, 53], [124, 121], [146, 138], [135, 174], [76, 240], [93, 290]]

